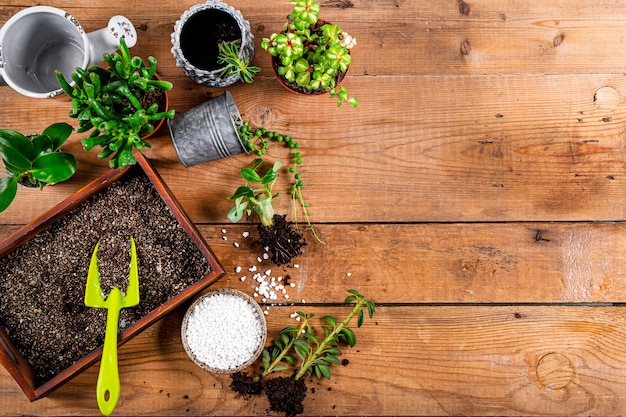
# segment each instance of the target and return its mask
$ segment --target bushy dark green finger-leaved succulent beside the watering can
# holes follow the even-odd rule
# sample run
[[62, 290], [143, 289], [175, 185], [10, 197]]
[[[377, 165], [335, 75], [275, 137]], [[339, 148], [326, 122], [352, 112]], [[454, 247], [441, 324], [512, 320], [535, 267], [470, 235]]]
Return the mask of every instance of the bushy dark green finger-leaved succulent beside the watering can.
[[134, 165], [133, 150], [151, 147], [145, 138], [163, 119], [174, 117], [174, 110], [160, 108], [160, 101], [172, 83], [156, 76], [156, 58], [147, 63], [131, 57], [120, 39], [118, 51], [105, 54], [108, 68], [76, 68], [73, 85], [56, 71], [61, 88], [72, 98], [70, 117], [78, 119], [77, 132], [91, 131], [82, 140], [85, 150], [98, 146], [100, 158], [108, 158], [111, 168]]

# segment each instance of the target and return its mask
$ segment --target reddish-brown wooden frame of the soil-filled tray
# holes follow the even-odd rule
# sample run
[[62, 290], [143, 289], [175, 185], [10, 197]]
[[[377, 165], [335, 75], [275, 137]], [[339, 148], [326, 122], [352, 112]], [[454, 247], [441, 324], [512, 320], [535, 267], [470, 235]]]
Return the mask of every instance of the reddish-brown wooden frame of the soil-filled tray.
[[[102, 175], [100, 178], [94, 180], [87, 186], [77, 191], [74, 195], [72, 195], [65, 201], [59, 203], [57, 206], [44, 213], [39, 218], [35, 219], [25, 227], [21, 228], [20, 230], [9, 236], [0, 244], [0, 260], [2, 260], [3, 258], [11, 255], [11, 253], [13, 253], [26, 242], [30, 241], [51, 226], [57, 224], [56, 222], [58, 220], [65, 217], [74, 209], [79, 208], [90, 197], [102, 192], [111, 184], [125, 179], [127, 175], [137, 175], [138, 173], [145, 174], [145, 176], [148, 178], [149, 182], [153, 186], [155, 192], [163, 200], [164, 206], [167, 206], [170, 209], [171, 214], [178, 222], [178, 225], [182, 229], [182, 232], [180, 232], [181, 235], [188, 236], [188, 240], [191, 242], [190, 245], [197, 248], [197, 251], [199, 252], [199, 254], [197, 255], [198, 258], [206, 259], [206, 263], [208, 264], [208, 272], [204, 277], [200, 276], [198, 280], [196, 280], [193, 284], [182, 289], [178, 293], [178, 295], [170, 298], [169, 300], [161, 304], [158, 308], [152, 310], [142, 318], [123, 328], [118, 337], [119, 345], [124, 344], [157, 320], [162, 319], [169, 312], [188, 301], [191, 297], [199, 293], [201, 290], [205, 289], [207, 286], [219, 279], [225, 273], [224, 268], [215, 258], [215, 255], [203, 239], [202, 235], [196, 229], [188, 216], [184, 213], [181, 206], [176, 201], [169, 188], [163, 182], [150, 161], [139, 152], [135, 152], [135, 157], [137, 159], [136, 165], [126, 167], [124, 169], [110, 170], [109, 172]], [[158, 237], [159, 232], [153, 233], [157, 233]], [[81, 235], [81, 239], [83, 238], [84, 236]], [[88, 243], [85, 242], [85, 246], [87, 245]], [[91, 248], [88, 248], [88, 250], [91, 250]], [[88, 258], [88, 256], [86, 258]], [[80, 267], [82, 268], [82, 256], [80, 257], [80, 259]], [[85, 259], [84, 261], [88, 263], [88, 259]], [[42, 260], [41, 262], [45, 261]], [[81, 276], [78, 279], [84, 279], [86, 282], [86, 278], [87, 277], [85, 275], [84, 277]], [[80, 285], [82, 285], [82, 288], [84, 288], [84, 284]], [[140, 286], [141, 285], [140, 271]], [[73, 302], [81, 303], [82, 300], [73, 299]], [[60, 373], [56, 374], [56, 376], [52, 377], [51, 379], [47, 381], [39, 381], [35, 376], [36, 372], [34, 371], [33, 367], [26, 361], [24, 355], [20, 353], [20, 351], [15, 347], [15, 344], [7, 336], [4, 326], [5, 324], [3, 323], [2, 327], [0, 327], [0, 363], [2, 363], [2, 365], [4, 365], [4, 367], [8, 370], [8, 372], [19, 384], [19, 386], [22, 388], [30, 401], [42, 398], [48, 395], [51, 391], [59, 388], [71, 378], [75, 377], [77, 374], [88, 368], [90, 365], [97, 362], [102, 355], [102, 345], [100, 345], [99, 348], [91, 351], [86, 356], [73, 363], [73, 365], [65, 368]], [[94, 389], [95, 384], [96, 381], [94, 380]]]

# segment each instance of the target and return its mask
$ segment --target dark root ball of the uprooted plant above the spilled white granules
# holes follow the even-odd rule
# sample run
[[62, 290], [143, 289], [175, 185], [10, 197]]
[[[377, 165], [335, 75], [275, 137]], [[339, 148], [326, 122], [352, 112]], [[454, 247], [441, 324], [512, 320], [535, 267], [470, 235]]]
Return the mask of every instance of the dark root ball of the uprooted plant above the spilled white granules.
[[259, 243], [267, 248], [270, 260], [275, 265], [284, 265], [298, 255], [302, 254], [302, 248], [306, 245], [302, 233], [291, 223], [288, 223], [285, 215], [274, 215], [274, 225], [259, 225]]

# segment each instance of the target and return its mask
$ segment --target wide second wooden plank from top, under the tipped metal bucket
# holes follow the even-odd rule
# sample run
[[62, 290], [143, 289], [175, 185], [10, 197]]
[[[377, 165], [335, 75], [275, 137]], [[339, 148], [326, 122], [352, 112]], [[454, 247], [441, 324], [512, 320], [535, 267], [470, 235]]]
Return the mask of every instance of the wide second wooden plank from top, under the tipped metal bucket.
[[[328, 97], [303, 101], [274, 79], [255, 84], [259, 95], [232, 89], [245, 118], [302, 143], [304, 191], [318, 222], [624, 218], [625, 114], [612, 105], [626, 95], [622, 76], [354, 77], [346, 85], [361, 98], [357, 109], [337, 110]], [[184, 92], [173, 97], [181, 105]], [[14, 98], [0, 96], [0, 117], [30, 129], [21, 119], [30, 101]], [[309, 104], [316, 117], [295, 124], [290, 115]], [[68, 145], [79, 158], [76, 177], [52, 191], [20, 190], [3, 221], [28, 221], [106, 170], [78, 140]], [[225, 221], [226, 197], [251, 157], [184, 169], [166, 131], [153, 144], [146, 155], [193, 221]], [[278, 200], [282, 211], [289, 205]]]

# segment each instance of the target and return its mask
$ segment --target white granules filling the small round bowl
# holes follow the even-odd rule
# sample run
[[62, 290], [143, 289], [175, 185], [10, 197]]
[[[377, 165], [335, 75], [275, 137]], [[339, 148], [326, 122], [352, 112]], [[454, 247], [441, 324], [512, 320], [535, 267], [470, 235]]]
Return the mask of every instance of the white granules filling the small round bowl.
[[262, 341], [260, 318], [247, 300], [232, 294], [203, 299], [187, 320], [187, 346], [194, 356], [217, 369], [248, 361]]

